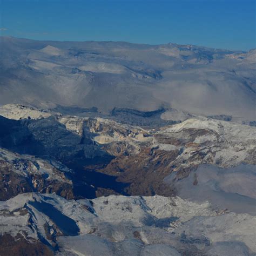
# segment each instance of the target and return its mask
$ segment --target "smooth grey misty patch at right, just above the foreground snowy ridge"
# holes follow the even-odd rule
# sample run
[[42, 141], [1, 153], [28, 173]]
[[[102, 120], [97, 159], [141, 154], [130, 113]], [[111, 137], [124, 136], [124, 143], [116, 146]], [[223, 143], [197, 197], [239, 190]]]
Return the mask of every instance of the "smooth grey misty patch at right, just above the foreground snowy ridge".
[[172, 173], [165, 182], [172, 183], [182, 198], [197, 202], [209, 200], [214, 207], [256, 215], [255, 165], [228, 169], [201, 165], [183, 180], [175, 177], [176, 174]]

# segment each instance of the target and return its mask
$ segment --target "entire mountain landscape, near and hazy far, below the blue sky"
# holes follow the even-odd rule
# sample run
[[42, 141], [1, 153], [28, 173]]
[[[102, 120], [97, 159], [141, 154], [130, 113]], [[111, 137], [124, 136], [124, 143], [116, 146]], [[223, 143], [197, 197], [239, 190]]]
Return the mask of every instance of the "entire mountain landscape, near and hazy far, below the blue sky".
[[0, 37], [0, 255], [256, 255], [255, 64]]

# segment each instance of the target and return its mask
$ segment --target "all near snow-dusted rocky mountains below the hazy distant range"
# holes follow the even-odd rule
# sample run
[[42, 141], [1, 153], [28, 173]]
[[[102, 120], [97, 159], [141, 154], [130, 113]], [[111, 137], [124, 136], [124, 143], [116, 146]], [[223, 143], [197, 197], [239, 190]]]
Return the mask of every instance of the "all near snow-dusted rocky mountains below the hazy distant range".
[[255, 127], [5, 109], [0, 254], [256, 253]]

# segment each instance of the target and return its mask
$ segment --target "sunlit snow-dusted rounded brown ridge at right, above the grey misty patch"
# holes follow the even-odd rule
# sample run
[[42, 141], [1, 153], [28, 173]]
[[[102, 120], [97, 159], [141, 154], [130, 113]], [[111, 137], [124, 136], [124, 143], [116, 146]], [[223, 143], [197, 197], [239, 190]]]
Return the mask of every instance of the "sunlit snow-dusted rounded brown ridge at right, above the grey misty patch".
[[159, 134], [185, 146], [180, 158], [186, 162], [180, 163], [181, 167], [191, 161], [221, 167], [255, 164], [251, 156], [256, 144], [256, 130], [250, 126], [213, 119], [188, 119], [161, 129]]

